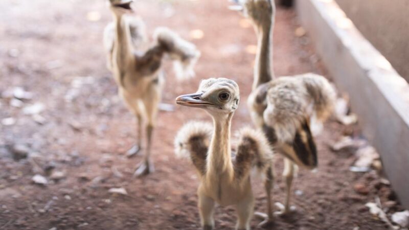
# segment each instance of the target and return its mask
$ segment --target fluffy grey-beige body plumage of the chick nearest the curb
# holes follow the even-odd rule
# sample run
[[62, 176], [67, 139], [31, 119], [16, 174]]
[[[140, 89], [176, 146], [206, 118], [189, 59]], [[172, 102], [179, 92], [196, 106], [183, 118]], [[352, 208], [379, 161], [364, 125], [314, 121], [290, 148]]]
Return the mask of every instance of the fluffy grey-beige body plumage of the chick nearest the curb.
[[333, 111], [335, 96], [327, 79], [304, 74], [260, 85], [249, 96], [248, 105], [254, 122], [264, 126], [272, 144], [279, 144], [297, 164], [313, 168], [317, 162], [310, 119], [325, 121]]

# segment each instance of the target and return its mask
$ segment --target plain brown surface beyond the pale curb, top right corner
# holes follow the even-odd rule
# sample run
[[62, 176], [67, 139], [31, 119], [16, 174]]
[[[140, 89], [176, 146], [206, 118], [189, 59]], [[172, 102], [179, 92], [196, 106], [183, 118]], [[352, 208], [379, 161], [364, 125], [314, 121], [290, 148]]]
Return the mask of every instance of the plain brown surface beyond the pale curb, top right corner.
[[409, 82], [409, 1], [335, 1], [358, 30]]

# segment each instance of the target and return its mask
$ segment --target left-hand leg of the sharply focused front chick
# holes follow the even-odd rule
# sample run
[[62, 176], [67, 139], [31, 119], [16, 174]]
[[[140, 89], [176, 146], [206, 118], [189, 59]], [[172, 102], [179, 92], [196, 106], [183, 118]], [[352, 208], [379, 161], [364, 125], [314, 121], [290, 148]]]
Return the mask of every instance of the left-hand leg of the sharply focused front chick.
[[200, 192], [200, 188], [197, 191], [198, 195], [198, 209], [200, 214], [200, 221], [203, 230], [212, 230], [214, 229], [214, 206], [215, 202], [212, 198], [206, 196]]

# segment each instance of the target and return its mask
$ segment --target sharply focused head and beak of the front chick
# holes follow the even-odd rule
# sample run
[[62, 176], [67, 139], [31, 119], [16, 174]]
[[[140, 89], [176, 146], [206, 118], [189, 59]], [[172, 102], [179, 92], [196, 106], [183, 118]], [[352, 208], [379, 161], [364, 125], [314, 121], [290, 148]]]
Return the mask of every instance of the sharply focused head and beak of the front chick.
[[202, 108], [216, 116], [236, 111], [239, 100], [239, 86], [235, 81], [209, 78], [200, 82], [196, 93], [177, 97], [176, 104]]

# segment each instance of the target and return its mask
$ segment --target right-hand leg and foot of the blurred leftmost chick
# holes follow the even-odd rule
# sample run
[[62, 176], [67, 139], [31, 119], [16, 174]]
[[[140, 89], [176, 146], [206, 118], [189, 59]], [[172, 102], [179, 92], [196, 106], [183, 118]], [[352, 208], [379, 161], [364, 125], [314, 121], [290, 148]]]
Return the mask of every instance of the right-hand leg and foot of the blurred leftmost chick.
[[144, 158], [134, 176], [143, 176], [154, 171], [153, 163], [150, 157], [152, 147], [152, 133], [155, 125], [157, 106], [161, 100], [161, 84], [159, 77], [153, 80], [147, 88], [142, 101], [146, 111], [146, 151]]

